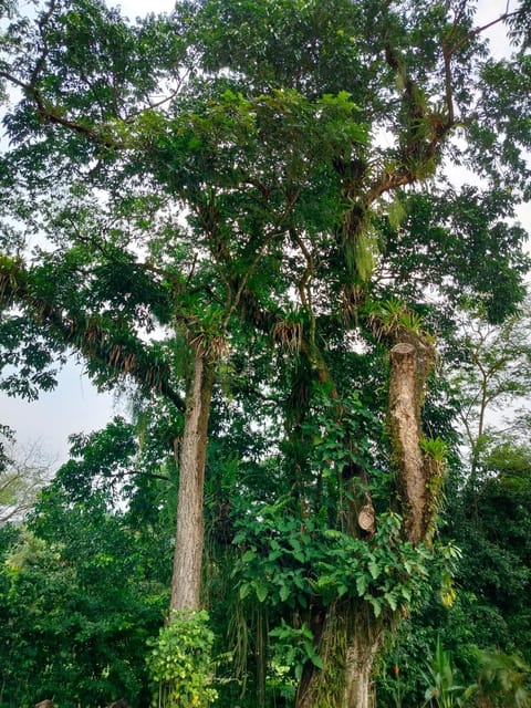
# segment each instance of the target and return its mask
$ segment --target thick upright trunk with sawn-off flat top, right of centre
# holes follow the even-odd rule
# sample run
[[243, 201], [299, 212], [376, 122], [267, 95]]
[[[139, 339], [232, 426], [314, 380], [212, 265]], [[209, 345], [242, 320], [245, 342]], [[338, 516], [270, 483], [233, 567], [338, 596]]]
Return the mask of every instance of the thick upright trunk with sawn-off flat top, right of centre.
[[433, 354], [423, 343], [402, 342], [391, 351], [389, 427], [393, 462], [400, 492], [405, 533], [425, 540], [433, 520], [433, 466], [420, 447], [424, 387]]

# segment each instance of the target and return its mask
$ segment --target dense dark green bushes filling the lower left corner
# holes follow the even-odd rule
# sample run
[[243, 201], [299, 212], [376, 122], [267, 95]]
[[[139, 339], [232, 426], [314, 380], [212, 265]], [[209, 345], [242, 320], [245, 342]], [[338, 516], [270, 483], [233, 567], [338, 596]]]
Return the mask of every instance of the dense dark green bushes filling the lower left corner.
[[[101, 550], [92, 559], [31, 535], [8, 556], [2, 705], [25, 708], [51, 696], [94, 705], [128, 696], [142, 704], [146, 636], [158, 625], [166, 593], [135, 582], [131, 568], [114, 561], [125, 551], [117, 529], [98, 525], [102, 535], [92, 529], [92, 538]], [[131, 546], [127, 552], [134, 558]], [[124, 582], [124, 571], [134, 584]]]

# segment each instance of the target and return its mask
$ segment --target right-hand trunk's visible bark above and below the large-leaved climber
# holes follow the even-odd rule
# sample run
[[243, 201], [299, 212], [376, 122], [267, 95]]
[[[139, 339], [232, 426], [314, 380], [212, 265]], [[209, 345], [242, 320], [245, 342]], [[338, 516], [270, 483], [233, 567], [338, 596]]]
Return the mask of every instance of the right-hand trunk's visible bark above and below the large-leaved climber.
[[[429, 482], [439, 471], [420, 446], [424, 389], [435, 352], [423, 337], [412, 335], [410, 340], [396, 344], [391, 352], [388, 418], [405, 537], [412, 543], [420, 543], [430, 532], [434, 491]], [[365, 511], [366, 531], [372, 532], [369, 517], [374, 510], [369, 502]], [[353, 534], [360, 531], [354, 519], [347, 528]], [[313, 617], [312, 631], [324, 668], [311, 663], [304, 667], [295, 708], [374, 708], [374, 659], [385, 631], [396, 624], [397, 613], [386, 612], [376, 618], [367, 603], [344, 600], [323, 610], [322, 615], [322, 621], [319, 615]]]

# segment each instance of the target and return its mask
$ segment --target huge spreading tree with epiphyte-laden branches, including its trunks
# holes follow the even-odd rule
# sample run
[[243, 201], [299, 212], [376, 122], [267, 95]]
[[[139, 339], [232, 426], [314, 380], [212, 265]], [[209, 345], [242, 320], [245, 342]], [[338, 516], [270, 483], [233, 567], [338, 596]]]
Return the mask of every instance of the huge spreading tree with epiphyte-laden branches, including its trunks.
[[[528, 178], [529, 62], [494, 62], [481, 34], [466, 2], [210, 0], [131, 25], [52, 0], [2, 40], [0, 76], [21, 98], [6, 118], [1, 334], [23, 371], [4, 387], [53, 385], [73, 348], [100, 385], [129, 378], [170, 412], [171, 606], [198, 608], [216, 376], [232, 357], [258, 372], [262, 347], [284, 513], [321, 554], [291, 548], [301, 592], [278, 592], [314, 637], [298, 708], [369, 705], [442, 485], [436, 418], [423, 419], [434, 333], [464, 294], [492, 322], [523, 295], [524, 233], [507, 216]], [[458, 134], [481, 187], [434, 181]], [[21, 231], [48, 238], [33, 259], [13, 248]], [[273, 541], [287, 548], [263, 534], [258, 568]]]

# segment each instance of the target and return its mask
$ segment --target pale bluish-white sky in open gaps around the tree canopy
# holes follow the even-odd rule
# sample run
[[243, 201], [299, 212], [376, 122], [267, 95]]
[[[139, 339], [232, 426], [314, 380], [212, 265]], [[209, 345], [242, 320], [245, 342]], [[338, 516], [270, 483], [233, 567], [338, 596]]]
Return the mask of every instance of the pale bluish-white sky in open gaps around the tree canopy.
[[[111, 4], [119, 6], [123, 14], [134, 19], [147, 12], [169, 12], [174, 0], [122, 0]], [[487, 23], [502, 14], [506, 4], [506, 0], [480, 0], [479, 23]], [[497, 55], [507, 53], [501, 28], [494, 28], [489, 39]], [[520, 209], [519, 218], [531, 232], [529, 205]], [[73, 358], [63, 368], [55, 391], [41, 394], [37, 402], [25, 403], [0, 393], [0, 424], [9, 425], [17, 431], [22, 449], [38, 450], [53, 467], [67, 459], [70, 434], [97, 430], [113, 415], [124, 414], [125, 410], [126, 404], [116, 404], [113, 395], [98, 394], [83, 374], [83, 365]]]

